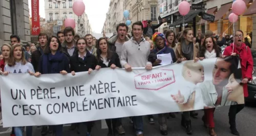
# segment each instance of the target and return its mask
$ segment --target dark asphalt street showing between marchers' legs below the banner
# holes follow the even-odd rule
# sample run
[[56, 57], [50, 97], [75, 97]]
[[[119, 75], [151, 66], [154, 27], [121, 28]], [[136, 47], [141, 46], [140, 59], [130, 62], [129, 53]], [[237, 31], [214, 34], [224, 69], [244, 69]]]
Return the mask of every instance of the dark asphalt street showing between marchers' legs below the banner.
[[[255, 105], [255, 104], [254, 104]], [[225, 136], [231, 136], [232, 134], [230, 133], [229, 130], [229, 124], [228, 124], [228, 109], [229, 106], [224, 106], [221, 108], [216, 109], [215, 111], [215, 123], [216, 123], [216, 132], [218, 135], [225, 135]], [[191, 118], [192, 120], [192, 127], [193, 127], [193, 135], [201, 136], [201, 135], [208, 135], [208, 130], [204, 128], [203, 122], [201, 120], [201, 117], [203, 115], [203, 111], [198, 111], [199, 115], [198, 118]], [[143, 117], [144, 119], [144, 135], [148, 136], [160, 136], [159, 132], [159, 125], [157, 122], [157, 115], [155, 117], [155, 124], [151, 125], [148, 123], [148, 120], [146, 116]], [[169, 118], [167, 123], [168, 123], [168, 135], [175, 135], [175, 136], [182, 136], [182, 135], [187, 135], [185, 133], [185, 129], [181, 127], [180, 124], [181, 120], [181, 113], [176, 114], [176, 118]], [[1, 125], [2, 125], [2, 120], [1, 120]], [[127, 136], [132, 136], [135, 135], [133, 132], [132, 125], [129, 123], [129, 118], [123, 118], [122, 120], [123, 127], [125, 129], [125, 134], [122, 135], [127, 135]], [[256, 107], [249, 105], [246, 106], [238, 115], [237, 115], [237, 128], [240, 132], [240, 135], [256, 135]], [[0, 128], [0, 136], [9, 136], [10, 135], [10, 128], [3, 128], [1, 126]], [[74, 131], [69, 130], [69, 125], [65, 125], [64, 131], [63, 131], [63, 136], [78, 136], [78, 135], [85, 135], [86, 133], [86, 126], [81, 125], [80, 126], [80, 134], [75, 133]], [[92, 135], [96, 136], [104, 136], [108, 133], [108, 129], [106, 127], [106, 124], [104, 120], [101, 121], [96, 121]], [[25, 134], [24, 134], [25, 135]], [[39, 136], [40, 135], [40, 127], [34, 127], [33, 131], [34, 136]], [[49, 134], [50, 136], [50, 134]]]

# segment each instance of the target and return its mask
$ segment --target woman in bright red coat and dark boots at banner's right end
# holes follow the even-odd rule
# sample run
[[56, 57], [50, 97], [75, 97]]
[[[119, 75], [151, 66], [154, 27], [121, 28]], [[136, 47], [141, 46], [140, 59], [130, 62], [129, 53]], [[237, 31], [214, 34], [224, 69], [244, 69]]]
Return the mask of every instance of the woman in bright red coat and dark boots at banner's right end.
[[[244, 89], [244, 97], [248, 97], [247, 82], [252, 79], [253, 60], [251, 49], [243, 43], [243, 31], [238, 30], [234, 35], [234, 43], [227, 46], [224, 50], [224, 56], [239, 55], [242, 68], [242, 84]], [[231, 133], [239, 135], [236, 127], [236, 115], [244, 108], [244, 104], [230, 105], [229, 108], [229, 124]]]

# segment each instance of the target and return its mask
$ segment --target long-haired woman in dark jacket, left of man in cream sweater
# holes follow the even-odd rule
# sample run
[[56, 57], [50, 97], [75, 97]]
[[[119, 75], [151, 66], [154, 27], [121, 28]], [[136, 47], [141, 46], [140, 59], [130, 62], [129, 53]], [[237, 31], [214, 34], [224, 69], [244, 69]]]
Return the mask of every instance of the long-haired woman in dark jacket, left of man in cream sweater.
[[[98, 65], [95, 68], [96, 70], [99, 70], [100, 68], [121, 68], [119, 56], [116, 52], [112, 52], [109, 49], [109, 43], [104, 37], [99, 38], [97, 46], [96, 53]], [[105, 119], [106, 125], [108, 125], [109, 128], [108, 135], [119, 134], [117, 129], [122, 126], [120, 120], [120, 118]]]

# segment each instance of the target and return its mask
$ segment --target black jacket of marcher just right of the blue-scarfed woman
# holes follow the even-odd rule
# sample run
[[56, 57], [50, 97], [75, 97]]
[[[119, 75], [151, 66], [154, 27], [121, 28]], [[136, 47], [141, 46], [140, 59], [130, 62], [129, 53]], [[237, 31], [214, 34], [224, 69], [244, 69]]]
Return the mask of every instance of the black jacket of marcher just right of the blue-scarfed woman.
[[84, 57], [83, 60], [78, 58], [78, 51], [75, 52], [75, 55], [70, 57], [70, 71], [83, 72], [88, 71], [89, 68], [95, 69], [97, 60], [88, 50], [86, 51], [86, 57]]

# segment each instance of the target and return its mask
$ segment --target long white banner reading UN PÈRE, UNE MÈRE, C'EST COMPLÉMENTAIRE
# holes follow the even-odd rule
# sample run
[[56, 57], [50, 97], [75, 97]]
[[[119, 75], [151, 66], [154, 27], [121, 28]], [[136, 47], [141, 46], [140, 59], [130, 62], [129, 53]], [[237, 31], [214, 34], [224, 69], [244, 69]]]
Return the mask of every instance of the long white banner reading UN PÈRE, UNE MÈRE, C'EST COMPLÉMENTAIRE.
[[[225, 89], [232, 74], [227, 74], [223, 81], [215, 75], [212, 78], [224, 67], [230, 68], [231, 63], [215, 58], [175, 63], [150, 71], [103, 68], [90, 75], [88, 72], [75, 76], [2, 75], [3, 125], [56, 125], [199, 110], [215, 106], [216, 101], [208, 97], [216, 91], [213, 84], [223, 82], [224, 98], [220, 105], [229, 105], [238, 101], [237, 95], [229, 98], [231, 88]], [[211, 93], [207, 93], [209, 90]]]

